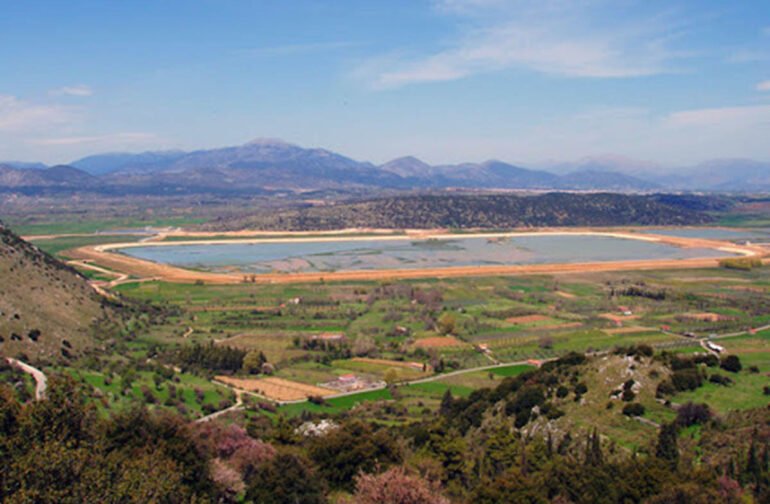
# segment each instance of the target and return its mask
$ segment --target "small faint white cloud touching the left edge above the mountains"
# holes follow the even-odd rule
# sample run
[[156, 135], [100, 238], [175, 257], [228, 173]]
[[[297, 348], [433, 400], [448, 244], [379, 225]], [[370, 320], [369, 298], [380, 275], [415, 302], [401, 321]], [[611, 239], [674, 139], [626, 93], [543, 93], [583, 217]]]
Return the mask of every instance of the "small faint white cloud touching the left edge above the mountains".
[[11, 95], [0, 95], [0, 131], [24, 132], [70, 123], [76, 109], [61, 105], [30, 103]]

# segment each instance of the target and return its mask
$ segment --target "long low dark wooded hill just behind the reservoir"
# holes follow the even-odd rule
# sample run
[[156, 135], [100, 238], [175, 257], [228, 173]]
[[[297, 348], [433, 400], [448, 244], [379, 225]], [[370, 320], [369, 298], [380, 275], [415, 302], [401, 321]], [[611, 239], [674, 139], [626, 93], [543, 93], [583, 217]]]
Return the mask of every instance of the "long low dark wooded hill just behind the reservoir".
[[713, 219], [702, 198], [611, 193], [416, 195], [313, 206], [212, 223], [218, 229], [514, 228], [693, 225]]

